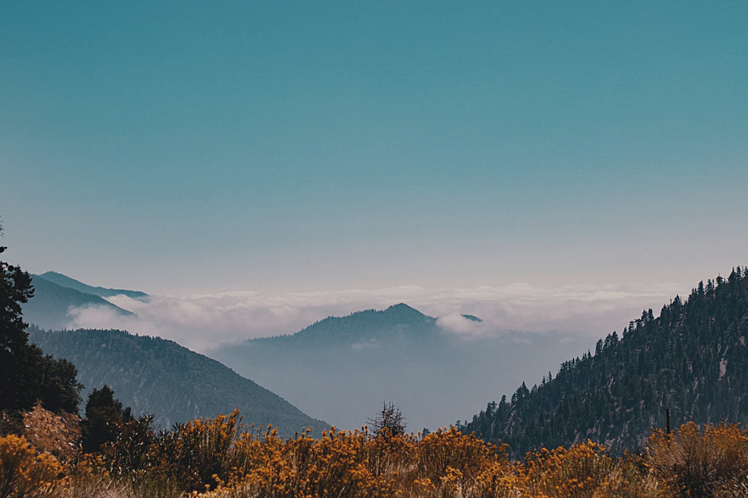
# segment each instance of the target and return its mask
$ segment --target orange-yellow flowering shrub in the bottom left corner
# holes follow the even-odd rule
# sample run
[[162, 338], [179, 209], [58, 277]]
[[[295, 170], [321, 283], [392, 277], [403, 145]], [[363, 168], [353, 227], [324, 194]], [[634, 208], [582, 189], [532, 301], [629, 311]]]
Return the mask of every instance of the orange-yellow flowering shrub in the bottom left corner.
[[62, 470], [55, 457], [37, 455], [25, 438], [0, 438], [0, 498], [57, 497], [65, 484]]

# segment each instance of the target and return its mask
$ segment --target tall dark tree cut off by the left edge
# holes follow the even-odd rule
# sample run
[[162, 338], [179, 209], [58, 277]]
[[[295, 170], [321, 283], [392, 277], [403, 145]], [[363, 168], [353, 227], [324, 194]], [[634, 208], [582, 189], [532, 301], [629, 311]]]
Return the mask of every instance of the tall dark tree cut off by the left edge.
[[28, 410], [37, 399], [51, 411], [78, 411], [76, 367], [28, 343], [21, 306], [33, 296], [31, 276], [0, 261], [0, 411]]

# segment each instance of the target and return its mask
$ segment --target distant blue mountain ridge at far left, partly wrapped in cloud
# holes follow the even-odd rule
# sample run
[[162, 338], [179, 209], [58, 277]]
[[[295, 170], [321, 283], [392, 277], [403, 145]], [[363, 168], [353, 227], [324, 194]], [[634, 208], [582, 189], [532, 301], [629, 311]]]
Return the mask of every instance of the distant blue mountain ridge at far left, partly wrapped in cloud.
[[117, 314], [132, 315], [100, 296], [55, 284], [42, 276], [32, 276], [31, 283], [34, 285], [34, 297], [22, 306], [23, 318], [42, 329], [65, 329], [70, 326], [72, 308], [101, 306]]

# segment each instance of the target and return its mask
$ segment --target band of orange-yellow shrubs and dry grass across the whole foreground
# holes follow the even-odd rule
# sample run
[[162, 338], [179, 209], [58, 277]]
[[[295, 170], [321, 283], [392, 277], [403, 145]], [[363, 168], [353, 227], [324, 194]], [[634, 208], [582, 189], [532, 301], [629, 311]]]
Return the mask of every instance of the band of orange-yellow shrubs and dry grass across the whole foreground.
[[587, 441], [523, 461], [455, 428], [283, 440], [236, 411], [171, 432], [129, 420], [91, 453], [55, 452], [50, 441], [0, 438], [0, 498], [748, 497], [748, 431], [729, 424], [655, 431], [637, 455], [613, 458]]

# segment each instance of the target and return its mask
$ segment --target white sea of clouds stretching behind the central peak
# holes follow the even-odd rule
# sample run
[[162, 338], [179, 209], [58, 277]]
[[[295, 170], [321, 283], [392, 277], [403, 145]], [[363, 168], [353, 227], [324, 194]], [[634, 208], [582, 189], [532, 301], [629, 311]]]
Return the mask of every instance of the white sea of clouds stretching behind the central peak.
[[[114, 296], [114, 305], [135, 313], [123, 316], [102, 307], [70, 310], [70, 329], [120, 329], [132, 334], [175, 340], [204, 352], [221, 343], [252, 337], [293, 334], [328, 316], [364, 309], [384, 309], [399, 302], [432, 317], [445, 331], [470, 340], [509, 330], [559, 332], [601, 337], [630, 320], [661, 306], [679, 284], [649, 287], [573, 285], [427, 289], [417, 286], [319, 292], [260, 293], [254, 291], [150, 296], [146, 300]], [[472, 314], [482, 322], [467, 320]]]

